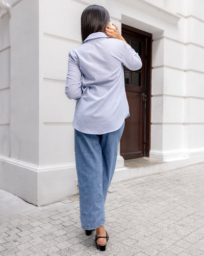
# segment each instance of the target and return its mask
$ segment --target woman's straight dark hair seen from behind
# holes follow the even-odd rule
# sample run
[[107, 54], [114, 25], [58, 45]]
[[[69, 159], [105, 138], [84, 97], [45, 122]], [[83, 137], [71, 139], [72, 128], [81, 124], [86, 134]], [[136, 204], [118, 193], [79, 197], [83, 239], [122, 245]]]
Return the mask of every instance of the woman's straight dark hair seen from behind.
[[91, 33], [105, 32], [109, 20], [109, 12], [103, 6], [87, 6], [81, 16], [82, 41], [84, 41]]

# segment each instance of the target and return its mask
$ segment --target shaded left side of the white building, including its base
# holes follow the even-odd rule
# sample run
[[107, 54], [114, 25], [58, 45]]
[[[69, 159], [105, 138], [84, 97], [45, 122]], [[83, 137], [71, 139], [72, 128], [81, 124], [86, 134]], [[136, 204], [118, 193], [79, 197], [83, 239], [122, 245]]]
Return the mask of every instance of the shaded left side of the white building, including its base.
[[[38, 1], [21, 1], [0, 18], [0, 187], [36, 203], [38, 165]], [[3, 31], [3, 32], [2, 32]]]

